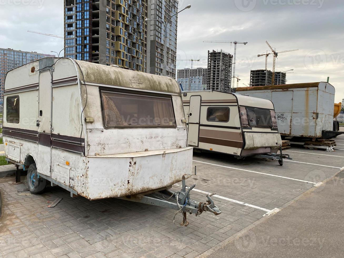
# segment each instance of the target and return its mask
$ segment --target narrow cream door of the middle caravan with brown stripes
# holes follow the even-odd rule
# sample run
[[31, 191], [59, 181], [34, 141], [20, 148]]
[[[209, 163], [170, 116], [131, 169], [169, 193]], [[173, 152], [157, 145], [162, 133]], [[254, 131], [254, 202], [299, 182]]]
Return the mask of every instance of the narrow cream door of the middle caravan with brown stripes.
[[189, 145], [198, 147], [198, 134], [200, 132], [201, 96], [190, 97], [189, 109]]

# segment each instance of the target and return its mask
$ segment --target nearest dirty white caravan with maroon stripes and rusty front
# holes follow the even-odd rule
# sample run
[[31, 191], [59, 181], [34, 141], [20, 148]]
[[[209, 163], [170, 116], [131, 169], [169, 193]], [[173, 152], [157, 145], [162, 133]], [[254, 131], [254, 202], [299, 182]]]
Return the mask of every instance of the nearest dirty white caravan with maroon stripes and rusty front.
[[[120, 197], [180, 209], [144, 195], [191, 174], [174, 79], [46, 57], [7, 73], [4, 103], [6, 158], [28, 170], [32, 193], [50, 181], [89, 200]], [[184, 205], [190, 189], [183, 186]], [[221, 213], [208, 197], [204, 207], [187, 197], [183, 211]]]

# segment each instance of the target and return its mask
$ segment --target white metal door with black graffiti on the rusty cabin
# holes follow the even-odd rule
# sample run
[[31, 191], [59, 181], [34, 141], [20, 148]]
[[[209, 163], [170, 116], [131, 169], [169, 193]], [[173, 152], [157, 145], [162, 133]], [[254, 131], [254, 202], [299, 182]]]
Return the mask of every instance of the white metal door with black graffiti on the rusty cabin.
[[[290, 135], [293, 115], [293, 91], [272, 92], [272, 103], [275, 103], [275, 113], [278, 125], [278, 132]], [[278, 104], [277, 104], [278, 103]]]

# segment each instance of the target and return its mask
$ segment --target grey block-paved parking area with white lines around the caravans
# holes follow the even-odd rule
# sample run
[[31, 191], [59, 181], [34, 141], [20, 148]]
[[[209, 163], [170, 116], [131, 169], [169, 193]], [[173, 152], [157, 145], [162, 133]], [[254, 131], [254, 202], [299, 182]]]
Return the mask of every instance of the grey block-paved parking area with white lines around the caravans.
[[[42, 195], [20, 193], [14, 178], [0, 179], [4, 199], [0, 219], [0, 257], [197, 257], [207, 256], [230, 237], [269, 219], [312, 187], [344, 166], [344, 135], [337, 150], [285, 150], [292, 161], [246, 158], [236, 160], [214, 153], [194, 153], [197, 175], [191, 197], [205, 201], [206, 193], [222, 210], [215, 216], [188, 215], [190, 224], [173, 224], [172, 209], [116, 198], [88, 201], [71, 198], [60, 187]], [[178, 189], [179, 186], [173, 186]], [[47, 201], [63, 198], [53, 208]], [[181, 219], [181, 217], [179, 217]]]

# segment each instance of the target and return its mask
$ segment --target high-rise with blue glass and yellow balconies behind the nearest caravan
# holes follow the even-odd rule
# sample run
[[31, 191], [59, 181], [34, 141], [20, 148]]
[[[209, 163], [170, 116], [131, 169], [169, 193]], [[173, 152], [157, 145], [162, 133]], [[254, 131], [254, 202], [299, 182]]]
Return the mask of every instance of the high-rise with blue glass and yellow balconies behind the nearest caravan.
[[147, 72], [148, 0], [65, 0], [65, 56]]

